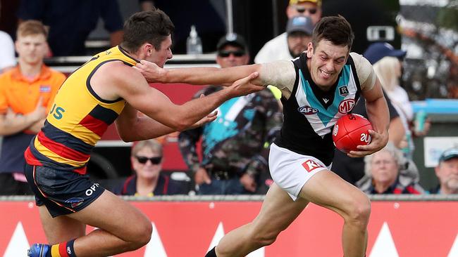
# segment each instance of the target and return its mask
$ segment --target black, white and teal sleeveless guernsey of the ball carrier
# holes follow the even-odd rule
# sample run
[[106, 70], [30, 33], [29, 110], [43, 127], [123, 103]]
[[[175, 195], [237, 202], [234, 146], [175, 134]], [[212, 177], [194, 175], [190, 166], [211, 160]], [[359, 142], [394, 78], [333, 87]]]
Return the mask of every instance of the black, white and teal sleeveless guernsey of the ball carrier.
[[327, 92], [311, 79], [305, 53], [293, 62], [295, 84], [290, 98], [281, 98], [284, 121], [275, 143], [330, 165], [334, 154], [333, 126], [340, 117], [351, 112], [361, 92], [354, 59], [349, 55], [338, 80]]

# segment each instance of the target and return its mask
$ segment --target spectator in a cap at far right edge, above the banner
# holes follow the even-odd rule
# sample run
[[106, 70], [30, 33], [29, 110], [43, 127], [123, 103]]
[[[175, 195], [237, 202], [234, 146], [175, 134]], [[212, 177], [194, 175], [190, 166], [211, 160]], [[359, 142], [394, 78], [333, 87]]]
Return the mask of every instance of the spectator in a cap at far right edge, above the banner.
[[433, 194], [458, 194], [458, 148], [453, 147], [440, 154], [439, 164], [435, 167], [439, 185], [431, 190]]

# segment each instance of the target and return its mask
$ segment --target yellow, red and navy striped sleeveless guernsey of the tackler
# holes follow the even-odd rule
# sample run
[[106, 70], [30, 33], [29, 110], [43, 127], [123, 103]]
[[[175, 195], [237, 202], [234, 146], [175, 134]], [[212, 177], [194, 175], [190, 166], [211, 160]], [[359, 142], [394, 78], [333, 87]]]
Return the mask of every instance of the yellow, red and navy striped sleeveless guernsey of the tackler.
[[25, 151], [28, 164], [86, 173], [92, 148], [125, 106], [122, 98], [100, 98], [90, 84], [101, 65], [116, 60], [130, 66], [137, 62], [116, 46], [94, 55], [70, 74], [54, 99], [42, 131]]

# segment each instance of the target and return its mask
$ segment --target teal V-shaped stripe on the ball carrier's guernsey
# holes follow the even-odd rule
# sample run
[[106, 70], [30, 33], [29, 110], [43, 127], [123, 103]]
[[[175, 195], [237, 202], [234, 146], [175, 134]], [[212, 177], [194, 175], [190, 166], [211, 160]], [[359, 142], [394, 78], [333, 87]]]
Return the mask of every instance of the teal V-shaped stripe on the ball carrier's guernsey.
[[314, 107], [318, 110], [318, 117], [321, 119], [321, 122], [323, 122], [324, 126], [328, 124], [328, 122], [335, 117], [335, 115], [339, 111], [339, 105], [340, 102], [345, 98], [344, 96], [340, 95], [339, 93], [339, 88], [340, 86], [347, 86], [350, 78], [349, 72], [352, 72], [350, 70], [351, 65], [345, 65], [342, 69], [342, 75], [339, 78], [338, 81], [338, 88], [336, 88], [335, 93], [334, 93], [334, 100], [333, 104], [326, 109], [321, 105], [321, 102], [316, 98], [316, 95], [314, 92], [311, 90], [311, 86], [309, 84], [309, 81], [304, 79], [304, 75], [302, 75], [302, 70], [299, 70], [299, 76], [302, 81], [302, 90], [304, 90], [305, 95], [307, 95], [307, 101], [311, 105], [311, 107]]

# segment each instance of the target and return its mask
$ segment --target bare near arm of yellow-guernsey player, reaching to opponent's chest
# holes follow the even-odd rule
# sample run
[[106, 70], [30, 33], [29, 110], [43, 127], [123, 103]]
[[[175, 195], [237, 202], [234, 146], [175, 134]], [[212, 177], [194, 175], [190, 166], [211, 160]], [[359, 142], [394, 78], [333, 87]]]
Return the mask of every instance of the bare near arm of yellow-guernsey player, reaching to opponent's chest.
[[[123, 98], [135, 110], [139, 110], [151, 119], [163, 124], [165, 127], [161, 127], [159, 124], [154, 125], [155, 129], [160, 129], [159, 133], [154, 134], [154, 136], [159, 136], [161, 133], [182, 131], [192, 127], [193, 124], [201, 121], [202, 118], [209, 115], [210, 112], [229, 98], [263, 89], [264, 86], [256, 86], [251, 83], [257, 76], [257, 73], [249, 74], [248, 77], [235, 81], [232, 86], [223, 88], [223, 90], [207, 95], [204, 98], [191, 100], [183, 105], [172, 103], [161, 91], [151, 88], [142, 77], [142, 74], [133, 71], [130, 67], [120, 62], [102, 65], [92, 77], [91, 84], [94, 91], [101, 98]], [[134, 122], [138, 125], [137, 129], [143, 133], [143, 136], [148, 136], [149, 138], [153, 136], [150, 132], [141, 129], [143, 126], [153, 125], [148, 124], [153, 121], [142, 121], [142, 119], [137, 119], [133, 112], [126, 112], [128, 113], [125, 114], [127, 117], [121, 117], [117, 123], [120, 128], [124, 128], [130, 122]], [[123, 121], [123, 119], [126, 119], [126, 121]], [[132, 132], [132, 129], [130, 129], [129, 133], [138, 132]]]

